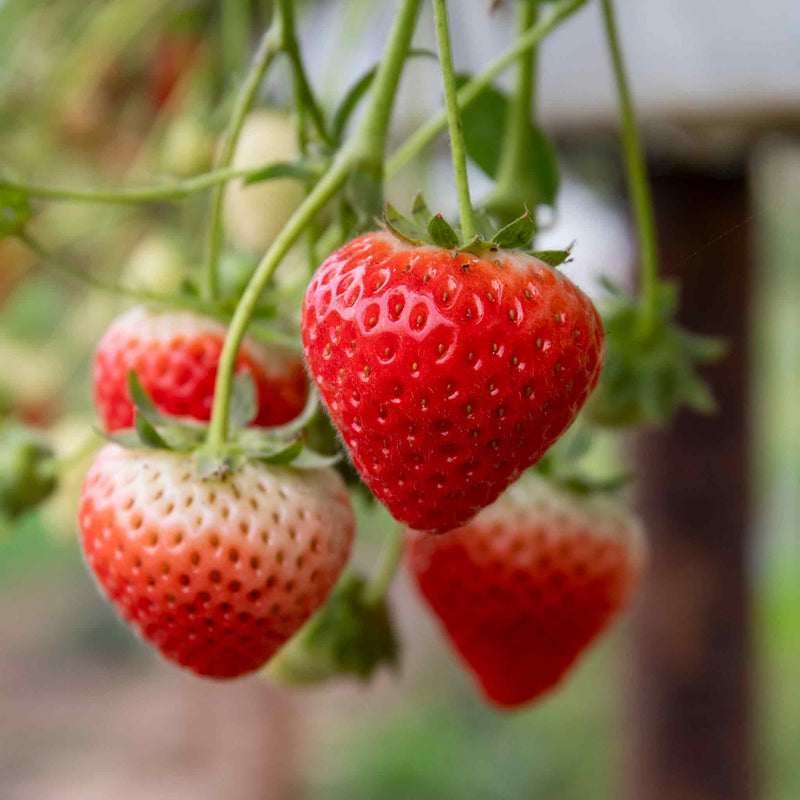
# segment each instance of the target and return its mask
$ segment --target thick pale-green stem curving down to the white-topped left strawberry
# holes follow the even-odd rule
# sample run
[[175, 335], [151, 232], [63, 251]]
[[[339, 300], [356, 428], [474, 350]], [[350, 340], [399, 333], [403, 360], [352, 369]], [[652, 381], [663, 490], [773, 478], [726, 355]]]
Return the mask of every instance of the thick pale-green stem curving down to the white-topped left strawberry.
[[316, 214], [345, 185], [352, 170], [363, 164], [383, 170], [386, 133], [397, 84], [405, 63], [419, 11], [420, 0], [402, 0], [386, 46], [386, 54], [375, 76], [370, 102], [352, 140], [339, 151], [329, 170], [300, 204], [256, 267], [245, 289], [225, 337], [214, 387], [214, 406], [208, 431], [208, 447], [222, 449], [228, 437], [228, 409], [236, 357], [261, 292], [289, 248]]

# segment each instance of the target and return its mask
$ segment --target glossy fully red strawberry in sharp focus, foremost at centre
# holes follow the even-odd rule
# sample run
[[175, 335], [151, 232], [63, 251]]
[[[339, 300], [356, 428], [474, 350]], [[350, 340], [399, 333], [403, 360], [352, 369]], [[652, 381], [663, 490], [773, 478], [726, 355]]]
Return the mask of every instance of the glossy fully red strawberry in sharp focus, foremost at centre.
[[303, 343], [366, 484], [396, 519], [435, 532], [469, 520], [544, 454], [604, 355], [591, 301], [544, 262], [390, 233], [322, 264]]

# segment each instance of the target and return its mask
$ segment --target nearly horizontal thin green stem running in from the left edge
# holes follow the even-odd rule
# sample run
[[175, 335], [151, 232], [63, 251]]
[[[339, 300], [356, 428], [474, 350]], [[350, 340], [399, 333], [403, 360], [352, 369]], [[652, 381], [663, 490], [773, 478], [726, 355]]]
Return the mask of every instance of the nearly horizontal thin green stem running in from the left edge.
[[68, 189], [56, 186], [41, 186], [34, 183], [0, 179], [0, 189], [11, 189], [28, 197], [42, 200], [69, 201], [75, 203], [108, 203], [137, 205], [139, 203], [158, 203], [183, 200], [192, 194], [211, 189], [235, 178], [248, 178], [262, 172], [269, 164], [249, 169], [225, 169], [206, 172], [183, 181], [169, 181], [155, 186], [126, 186], [109, 189]]

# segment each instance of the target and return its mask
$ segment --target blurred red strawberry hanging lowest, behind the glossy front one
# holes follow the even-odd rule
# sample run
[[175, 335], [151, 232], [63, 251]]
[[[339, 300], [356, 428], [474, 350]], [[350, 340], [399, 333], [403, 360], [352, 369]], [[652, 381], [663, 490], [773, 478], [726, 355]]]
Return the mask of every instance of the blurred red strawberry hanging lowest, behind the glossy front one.
[[508, 708], [561, 680], [625, 607], [642, 564], [627, 514], [537, 476], [463, 528], [412, 533], [406, 556], [486, 697]]

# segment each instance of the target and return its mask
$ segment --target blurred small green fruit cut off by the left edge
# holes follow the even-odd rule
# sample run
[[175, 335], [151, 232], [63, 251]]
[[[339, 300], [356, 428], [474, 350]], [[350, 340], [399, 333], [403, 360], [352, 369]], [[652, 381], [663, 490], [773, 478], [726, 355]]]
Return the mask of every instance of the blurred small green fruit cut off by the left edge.
[[13, 420], [0, 423], [0, 517], [14, 520], [56, 488], [53, 451]]

